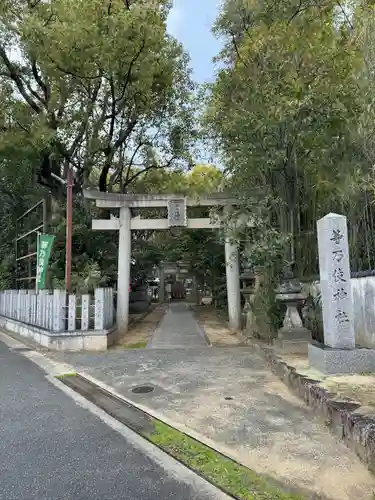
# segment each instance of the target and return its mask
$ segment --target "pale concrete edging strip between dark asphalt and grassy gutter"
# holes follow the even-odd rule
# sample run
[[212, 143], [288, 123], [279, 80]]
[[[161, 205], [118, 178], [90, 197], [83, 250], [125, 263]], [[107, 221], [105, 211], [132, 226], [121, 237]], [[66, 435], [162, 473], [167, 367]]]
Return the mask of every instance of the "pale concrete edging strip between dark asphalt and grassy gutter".
[[197, 498], [204, 493], [209, 495], [212, 500], [231, 500], [231, 497], [212, 486], [203, 478], [174, 460], [174, 458], [160, 450], [160, 448], [142, 438], [115, 418], [112, 418], [104, 410], [101, 410], [95, 404], [76, 393], [73, 389], [56, 379], [53, 375], [48, 375], [47, 379], [54, 386], [58, 387], [61, 391], [70, 396], [78, 406], [90, 411], [113, 430], [120, 433], [132, 446], [134, 446], [134, 448], [141, 450], [158, 466], [162, 467], [171, 478], [192, 487], [196, 491]]

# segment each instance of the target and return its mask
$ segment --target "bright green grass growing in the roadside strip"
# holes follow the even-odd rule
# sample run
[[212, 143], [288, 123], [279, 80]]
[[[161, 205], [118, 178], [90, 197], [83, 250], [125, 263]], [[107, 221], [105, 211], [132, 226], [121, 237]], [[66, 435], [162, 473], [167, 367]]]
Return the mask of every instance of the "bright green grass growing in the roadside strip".
[[281, 491], [254, 471], [162, 422], [154, 421], [154, 431], [145, 437], [235, 498], [304, 500], [301, 496]]

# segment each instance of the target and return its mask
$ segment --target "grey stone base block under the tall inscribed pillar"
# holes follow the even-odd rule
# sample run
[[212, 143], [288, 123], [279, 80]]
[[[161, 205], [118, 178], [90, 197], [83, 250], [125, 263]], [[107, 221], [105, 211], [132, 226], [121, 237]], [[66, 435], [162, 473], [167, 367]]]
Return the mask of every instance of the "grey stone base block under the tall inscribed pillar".
[[375, 349], [333, 349], [311, 343], [308, 354], [310, 366], [327, 375], [375, 372]]

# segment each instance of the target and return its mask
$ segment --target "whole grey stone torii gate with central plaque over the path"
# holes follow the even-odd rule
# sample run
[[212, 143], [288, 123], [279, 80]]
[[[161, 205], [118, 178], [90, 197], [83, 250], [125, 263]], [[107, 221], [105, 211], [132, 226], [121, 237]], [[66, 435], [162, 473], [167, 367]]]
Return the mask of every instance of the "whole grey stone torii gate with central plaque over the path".
[[[223, 207], [230, 209], [235, 204], [223, 193], [194, 200], [169, 194], [116, 194], [99, 191], [84, 191], [85, 198], [95, 200], [98, 208], [119, 208], [120, 217], [113, 219], [97, 219], [92, 221], [94, 230], [119, 231], [118, 243], [118, 279], [117, 279], [117, 328], [126, 333], [129, 324], [129, 283], [131, 261], [131, 231], [134, 230], [168, 230], [171, 227], [188, 229], [219, 229], [219, 221], [210, 218], [188, 218], [187, 207]], [[142, 219], [132, 217], [131, 209], [168, 208], [168, 218]], [[238, 245], [230, 236], [225, 239], [225, 261], [228, 296], [229, 326], [236, 330], [241, 326], [241, 295], [238, 262]]]

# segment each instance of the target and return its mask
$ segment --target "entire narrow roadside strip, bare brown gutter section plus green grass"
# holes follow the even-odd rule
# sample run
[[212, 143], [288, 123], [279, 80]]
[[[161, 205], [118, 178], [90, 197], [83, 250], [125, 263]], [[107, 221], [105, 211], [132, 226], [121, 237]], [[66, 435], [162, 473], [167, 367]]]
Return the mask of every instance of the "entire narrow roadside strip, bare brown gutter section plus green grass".
[[[59, 379], [134, 432], [189, 467], [211, 484], [237, 500], [307, 500], [287, 486], [264, 477], [225, 457], [196, 439], [120, 400], [80, 375], [68, 373]], [[113, 405], [113, 403], [116, 403]], [[142, 421], [142, 418], [144, 419]], [[309, 497], [310, 498], [310, 497]]]

